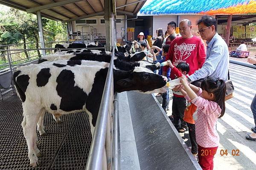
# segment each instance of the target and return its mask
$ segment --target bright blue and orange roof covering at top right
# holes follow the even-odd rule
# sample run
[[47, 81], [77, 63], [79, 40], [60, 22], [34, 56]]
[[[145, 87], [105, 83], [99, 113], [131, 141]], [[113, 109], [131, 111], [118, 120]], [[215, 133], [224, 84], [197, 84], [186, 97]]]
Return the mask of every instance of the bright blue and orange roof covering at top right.
[[256, 0], [148, 0], [138, 16], [256, 14]]

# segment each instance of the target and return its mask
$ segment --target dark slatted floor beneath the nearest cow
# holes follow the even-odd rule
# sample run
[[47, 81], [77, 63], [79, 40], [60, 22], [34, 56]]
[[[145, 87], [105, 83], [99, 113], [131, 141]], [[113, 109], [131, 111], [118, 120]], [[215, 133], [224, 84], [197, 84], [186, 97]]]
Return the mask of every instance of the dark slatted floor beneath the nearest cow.
[[39, 136], [40, 166], [29, 166], [26, 139], [23, 136], [21, 101], [9, 92], [0, 101], [0, 170], [84, 170], [91, 134], [86, 113], [61, 116], [56, 124], [52, 114], [44, 116], [47, 136]]

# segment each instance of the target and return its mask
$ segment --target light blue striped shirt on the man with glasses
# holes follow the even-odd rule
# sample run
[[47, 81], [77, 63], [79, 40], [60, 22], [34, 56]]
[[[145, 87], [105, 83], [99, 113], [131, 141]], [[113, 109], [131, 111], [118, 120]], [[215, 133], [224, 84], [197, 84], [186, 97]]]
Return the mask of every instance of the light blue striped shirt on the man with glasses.
[[227, 81], [229, 51], [226, 42], [216, 33], [207, 43], [204, 65], [189, 76], [192, 81], [205, 77], [219, 78]]

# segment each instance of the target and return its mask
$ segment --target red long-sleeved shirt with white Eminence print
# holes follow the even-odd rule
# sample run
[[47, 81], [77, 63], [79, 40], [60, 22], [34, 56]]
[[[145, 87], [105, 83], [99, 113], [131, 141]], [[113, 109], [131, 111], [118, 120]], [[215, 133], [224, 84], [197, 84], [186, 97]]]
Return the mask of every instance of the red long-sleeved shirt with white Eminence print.
[[[165, 60], [170, 59], [175, 66], [180, 62], [188, 63], [188, 74], [191, 75], [203, 66], [205, 57], [206, 48], [200, 38], [196, 36], [187, 39], [177, 37], [172, 41]], [[163, 71], [166, 71], [168, 68], [169, 66], [164, 66]], [[171, 71], [170, 78], [175, 79], [173, 71]]]

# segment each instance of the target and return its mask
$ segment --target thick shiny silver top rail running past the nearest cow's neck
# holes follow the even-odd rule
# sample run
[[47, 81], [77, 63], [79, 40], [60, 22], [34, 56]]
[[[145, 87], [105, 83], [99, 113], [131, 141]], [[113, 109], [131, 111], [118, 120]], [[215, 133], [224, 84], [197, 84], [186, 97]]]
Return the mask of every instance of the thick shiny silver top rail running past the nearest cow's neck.
[[102, 155], [105, 149], [106, 128], [108, 119], [109, 96], [111, 93], [111, 83], [113, 77], [113, 58], [114, 47], [111, 62], [108, 68], [108, 75], [106, 78], [102, 100], [99, 107], [98, 118], [93, 133], [93, 140], [90, 146], [90, 152], [87, 159], [86, 170], [102, 170]]

